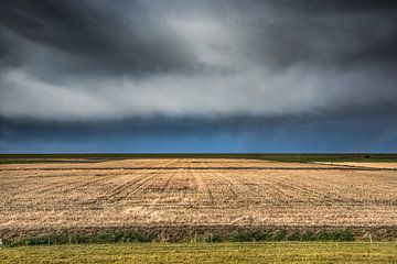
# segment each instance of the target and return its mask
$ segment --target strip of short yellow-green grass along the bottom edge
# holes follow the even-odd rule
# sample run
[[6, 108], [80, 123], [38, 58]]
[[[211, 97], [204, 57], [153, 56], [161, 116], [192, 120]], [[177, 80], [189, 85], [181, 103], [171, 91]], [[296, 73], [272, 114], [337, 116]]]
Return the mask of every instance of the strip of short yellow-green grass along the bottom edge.
[[397, 263], [397, 243], [116, 243], [0, 249], [0, 263]]

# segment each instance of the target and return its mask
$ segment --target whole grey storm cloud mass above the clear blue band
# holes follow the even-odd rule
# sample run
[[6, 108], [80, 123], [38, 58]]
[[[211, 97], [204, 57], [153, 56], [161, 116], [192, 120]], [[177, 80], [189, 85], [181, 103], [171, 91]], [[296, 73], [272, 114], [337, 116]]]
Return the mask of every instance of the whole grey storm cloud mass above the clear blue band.
[[395, 1], [2, 1], [0, 114], [390, 114]]

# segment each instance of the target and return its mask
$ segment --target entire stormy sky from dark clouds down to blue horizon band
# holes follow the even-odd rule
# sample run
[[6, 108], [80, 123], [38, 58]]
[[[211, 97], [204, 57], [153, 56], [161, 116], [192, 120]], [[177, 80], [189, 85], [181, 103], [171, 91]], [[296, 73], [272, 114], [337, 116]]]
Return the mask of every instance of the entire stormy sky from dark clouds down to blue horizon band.
[[0, 153], [394, 153], [396, 72], [396, 1], [4, 0]]

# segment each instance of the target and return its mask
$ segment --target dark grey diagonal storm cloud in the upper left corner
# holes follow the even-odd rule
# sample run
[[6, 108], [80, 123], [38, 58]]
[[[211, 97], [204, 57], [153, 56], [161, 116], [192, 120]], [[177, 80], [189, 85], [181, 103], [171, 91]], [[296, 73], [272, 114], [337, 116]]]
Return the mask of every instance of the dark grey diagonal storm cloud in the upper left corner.
[[[124, 20], [124, 7], [129, 21]], [[162, 32], [158, 21], [146, 16], [144, 9], [138, 1], [15, 0], [0, 3], [0, 18], [7, 30], [75, 56], [77, 67], [111, 73], [191, 67], [191, 54], [170, 32]]]

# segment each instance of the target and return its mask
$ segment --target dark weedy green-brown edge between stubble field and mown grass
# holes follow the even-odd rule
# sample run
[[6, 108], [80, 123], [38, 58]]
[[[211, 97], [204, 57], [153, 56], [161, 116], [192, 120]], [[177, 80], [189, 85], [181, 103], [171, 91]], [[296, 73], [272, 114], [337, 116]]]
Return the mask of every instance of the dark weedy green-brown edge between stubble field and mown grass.
[[[14, 232], [14, 230], [13, 230]], [[12, 238], [0, 231], [6, 246], [115, 242], [260, 242], [394, 241], [397, 227], [130, 227], [32, 230]]]

